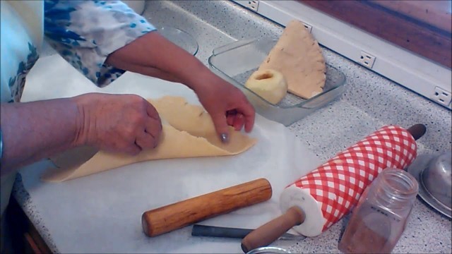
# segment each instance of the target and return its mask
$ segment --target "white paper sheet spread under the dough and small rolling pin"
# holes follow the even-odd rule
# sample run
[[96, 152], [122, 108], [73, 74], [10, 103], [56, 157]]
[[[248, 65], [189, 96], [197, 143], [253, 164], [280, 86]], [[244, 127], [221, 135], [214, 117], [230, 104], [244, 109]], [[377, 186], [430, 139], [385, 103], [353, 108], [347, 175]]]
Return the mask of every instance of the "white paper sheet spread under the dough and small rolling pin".
[[[52, 66], [52, 67], [50, 67]], [[183, 85], [126, 73], [112, 85], [95, 87], [60, 56], [37, 62], [28, 76], [23, 101], [69, 97], [85, 92], [134, 93], [157, 98], [184, 96], [198, 104]], [[23, 185], [40, 214], [40, 224], [61, 253], [242, 253], [239, 239], [191, 236], [191, 226], [149, 238], [141, 214], [173, 202], [264, 177], [273, 197], [252, 207], [201, 224], [255, 228], [281, 214], [285, 186], [321, 161], [280, 123], [257, 116], [258, 143], [241, 155], [164, 159], [131, 164], [63, 183], [39, 180], [43, 163], [20, 170]]]

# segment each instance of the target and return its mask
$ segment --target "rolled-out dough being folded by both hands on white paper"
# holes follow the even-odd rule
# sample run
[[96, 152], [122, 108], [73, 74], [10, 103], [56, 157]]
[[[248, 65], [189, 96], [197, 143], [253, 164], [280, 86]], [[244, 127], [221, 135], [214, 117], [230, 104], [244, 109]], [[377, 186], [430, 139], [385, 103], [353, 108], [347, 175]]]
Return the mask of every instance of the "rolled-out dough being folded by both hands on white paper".
[[61, 182], [88, 176], [108, 169], [151, 159], [211, 157], [237, 155], [257, 140], [230, 127], [230, 143], [223, 144], [213, 121], [203, 107], [191, 105], [183, 97], [150, 100], [164, 122], [159, 145], [136, 156], [78, 147], [52, 158], [57, 166], [48, 169], [42, 180]]

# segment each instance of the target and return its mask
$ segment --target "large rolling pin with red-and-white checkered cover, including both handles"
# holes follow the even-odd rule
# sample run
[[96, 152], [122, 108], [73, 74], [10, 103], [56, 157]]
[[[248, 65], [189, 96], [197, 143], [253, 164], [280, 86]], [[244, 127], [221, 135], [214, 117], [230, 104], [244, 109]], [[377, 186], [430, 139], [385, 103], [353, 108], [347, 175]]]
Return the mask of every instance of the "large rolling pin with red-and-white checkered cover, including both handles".
[[425, 131], [422, 124], [386, 126], [287, 186], [280, 197], [284, 214], [245, 236], [242, 250], [267, 246], [292, 227], [318, 236], [352, 209], [379, 172], [408, 167], [417, 154], [415, 140]]

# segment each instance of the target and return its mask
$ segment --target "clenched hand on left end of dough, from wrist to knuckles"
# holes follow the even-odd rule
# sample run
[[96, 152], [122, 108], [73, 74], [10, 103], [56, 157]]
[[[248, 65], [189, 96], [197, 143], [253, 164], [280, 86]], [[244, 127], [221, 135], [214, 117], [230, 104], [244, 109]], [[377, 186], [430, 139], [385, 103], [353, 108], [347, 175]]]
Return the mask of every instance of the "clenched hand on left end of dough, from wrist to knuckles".
[[143, 97], [90, 93], [72, 99], [78, 108], [78, 144], [129, 155], [157, 146], [162, 122]]

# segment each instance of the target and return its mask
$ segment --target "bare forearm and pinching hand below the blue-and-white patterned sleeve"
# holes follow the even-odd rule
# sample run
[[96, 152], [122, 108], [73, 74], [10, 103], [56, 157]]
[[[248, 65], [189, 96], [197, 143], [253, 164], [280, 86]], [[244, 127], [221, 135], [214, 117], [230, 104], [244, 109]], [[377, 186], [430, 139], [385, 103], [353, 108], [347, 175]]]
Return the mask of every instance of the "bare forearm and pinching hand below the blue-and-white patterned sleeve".
[[187, 85], [198, 95], [219, 134], [227, 134], [228, 125], [237, 130], [244, 126], [247, 132], [254, 125], [254, 107], [239, 89], [158, 32], [149, 32], [109, 54], [106, 63]]

